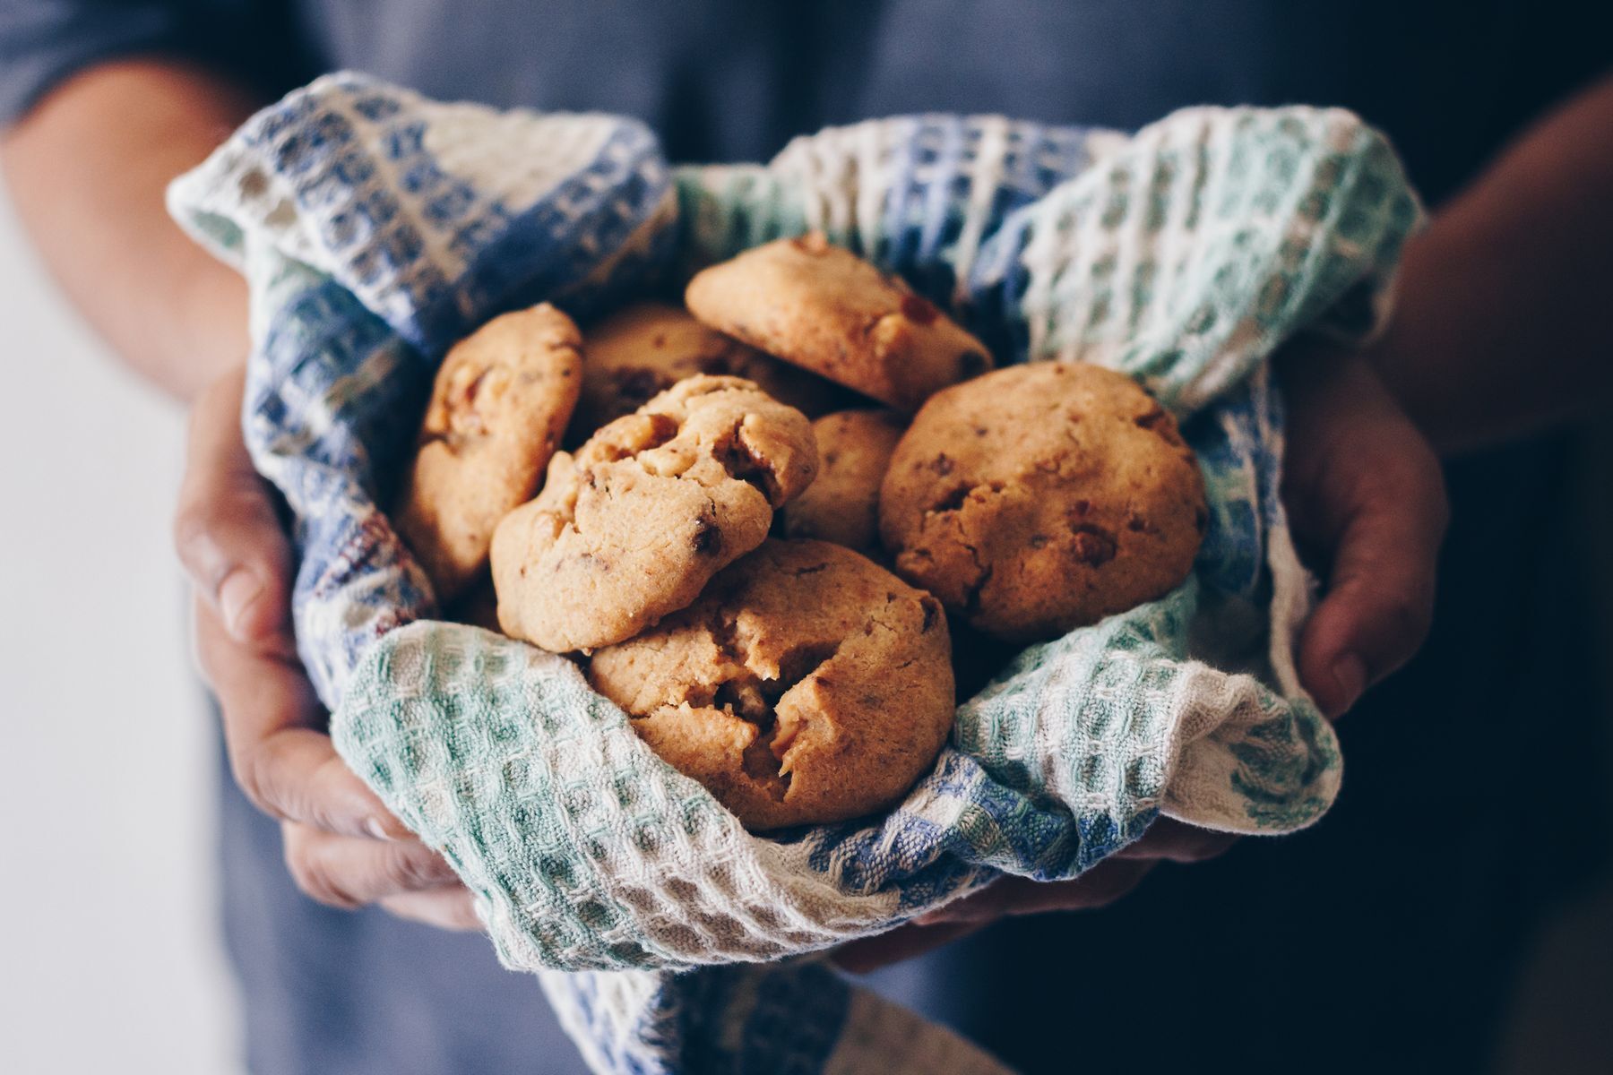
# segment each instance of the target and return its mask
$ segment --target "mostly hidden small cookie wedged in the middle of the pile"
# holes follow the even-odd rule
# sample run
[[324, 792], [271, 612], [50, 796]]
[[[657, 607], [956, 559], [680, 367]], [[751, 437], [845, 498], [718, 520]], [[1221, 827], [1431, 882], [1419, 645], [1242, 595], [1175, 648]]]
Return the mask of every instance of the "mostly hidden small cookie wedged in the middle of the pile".
[[839, 411], [811, 424], [818, 479], [784, 509], [786, 537], [879, 553], [879, 484], [907, 421], [890, 411]]

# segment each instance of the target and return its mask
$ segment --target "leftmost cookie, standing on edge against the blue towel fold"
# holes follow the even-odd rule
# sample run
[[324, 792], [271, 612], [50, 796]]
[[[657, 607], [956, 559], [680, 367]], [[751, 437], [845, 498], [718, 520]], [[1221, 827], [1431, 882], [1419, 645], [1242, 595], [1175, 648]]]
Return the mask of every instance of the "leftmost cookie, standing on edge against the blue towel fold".
[[577, 403], [582, 337], [548, 303], [494, 318], [442, 359], [394, 513], [442, 603], [487, 566], [494, 527], [524, 504]]

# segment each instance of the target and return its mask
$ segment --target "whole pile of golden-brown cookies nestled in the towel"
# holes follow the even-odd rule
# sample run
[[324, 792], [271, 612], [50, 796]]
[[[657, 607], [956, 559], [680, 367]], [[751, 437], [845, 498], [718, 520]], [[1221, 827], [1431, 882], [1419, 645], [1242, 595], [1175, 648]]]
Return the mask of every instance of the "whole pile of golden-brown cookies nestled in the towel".
[[686, 303], [461, 340], [395, 519], [450, 614], [573, 654], [748, 828], [897, 803], [950, 732], [957, 632], [1053, 638], [1192, 569], [1198, 464], [1129, 377], [990, 372], [818, 234]]

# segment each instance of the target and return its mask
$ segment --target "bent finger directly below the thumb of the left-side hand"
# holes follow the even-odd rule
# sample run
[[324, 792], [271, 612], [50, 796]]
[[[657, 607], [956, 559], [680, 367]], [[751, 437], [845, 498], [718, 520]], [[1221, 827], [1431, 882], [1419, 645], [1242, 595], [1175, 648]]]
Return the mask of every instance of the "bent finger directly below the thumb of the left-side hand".
[[231, 769], [253, 806], [331, 833], [411, 838], [319, 730], [323, 711], [302, 666], [235, 641], [203, 600], [195, 632]]

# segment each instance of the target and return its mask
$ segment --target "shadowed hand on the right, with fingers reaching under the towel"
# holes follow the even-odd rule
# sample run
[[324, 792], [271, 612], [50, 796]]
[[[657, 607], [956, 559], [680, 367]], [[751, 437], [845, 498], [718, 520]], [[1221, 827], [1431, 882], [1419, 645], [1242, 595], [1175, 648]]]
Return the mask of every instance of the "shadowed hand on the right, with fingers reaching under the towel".
[[[1295, 537], [1326, 558], [1321, 603], [1300, 637], [1300, 680], [1329, 717], [1405, 664], [1428, 635], [1445, 535], [1445, 484], [1432, 448], [1366, 361], [1305, 343], [1277, 359], [1287, 393], [1282, 498]], [[1202, 862], [1234, 836], [1160, 819], [1134, 845], [1068, 882], [1005, 877], [834, 962], [866, 973], [1008, 914], [1115, 903], [1163, 861]]]

